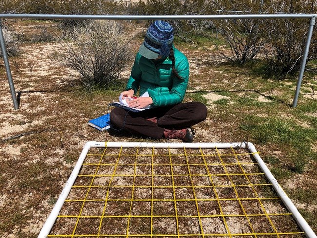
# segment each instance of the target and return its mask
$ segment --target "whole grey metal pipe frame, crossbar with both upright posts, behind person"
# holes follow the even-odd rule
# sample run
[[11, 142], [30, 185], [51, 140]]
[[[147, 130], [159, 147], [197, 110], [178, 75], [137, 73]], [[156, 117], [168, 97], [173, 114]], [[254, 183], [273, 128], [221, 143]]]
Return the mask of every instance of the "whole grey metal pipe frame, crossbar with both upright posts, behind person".
[[305, 43], [305, 49], [303, 58], [301, 61], [299, 76], [297, 80], [297, 87], [295, 91], [295, 96], [293, 99], [292, 107], [297, 106], [297, 101], [299, 97], [301, 82], [304, 76], [304, 71], [306, 67], [306, 61], [309, 52], [309, 46], [313, 34], [313, 28], [315, 25], [317, 14], [241, 14], [241, 15], [59, 15], [59, 14], [0, 14], [0, 40], [1, 48], [4, 59], [4, 64], [6, 67], [7, 77], [9, 80], [10, 90], [12, 94], [14, 109], [18, 109], [19, 105], [15, 96], [15, 89], [12, 80], [10, 65], [7, 57], [7, 51], [5, 47], [5, 42], [3, 38], [3, 32], [1, 27], [1, 19], [77, 19], [77, 20], [192, 20], [192, 19], [213, 19], [213, 20], [223, 20], [223, 19], [310, 19], [307, 40]]

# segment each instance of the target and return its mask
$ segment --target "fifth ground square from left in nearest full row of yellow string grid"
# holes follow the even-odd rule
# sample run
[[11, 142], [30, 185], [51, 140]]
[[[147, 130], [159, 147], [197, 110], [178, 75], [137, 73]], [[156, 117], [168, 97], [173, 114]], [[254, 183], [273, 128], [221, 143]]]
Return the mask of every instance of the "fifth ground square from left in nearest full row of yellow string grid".
[[175, 218], [153, 218], [153, 231], [154, 235], [176, 235], [176, 220]]

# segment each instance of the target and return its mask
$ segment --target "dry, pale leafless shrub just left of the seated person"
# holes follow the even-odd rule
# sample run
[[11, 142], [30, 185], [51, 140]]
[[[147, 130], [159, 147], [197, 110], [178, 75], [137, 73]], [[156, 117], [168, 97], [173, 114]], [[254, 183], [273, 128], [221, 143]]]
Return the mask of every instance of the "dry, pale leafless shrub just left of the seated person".
[[96, 20], [78, 27], [64, 47], [64, 63], [79, 72], [87, 88], [109, 86], [131, 59], [131, 36], [116, 21]]

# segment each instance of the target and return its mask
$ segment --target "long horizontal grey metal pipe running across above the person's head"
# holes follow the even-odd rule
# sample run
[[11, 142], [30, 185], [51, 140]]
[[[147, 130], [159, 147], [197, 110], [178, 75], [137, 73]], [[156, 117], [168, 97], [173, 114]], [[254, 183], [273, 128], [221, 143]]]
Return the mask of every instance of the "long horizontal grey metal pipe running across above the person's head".
[[241, 15], [60, 15], [60, 14], [0, 14], [0, 18], [32, 18], [32, 19], [257, 19], [257, 18], [311, 18], [316, 14], [241, 14]]

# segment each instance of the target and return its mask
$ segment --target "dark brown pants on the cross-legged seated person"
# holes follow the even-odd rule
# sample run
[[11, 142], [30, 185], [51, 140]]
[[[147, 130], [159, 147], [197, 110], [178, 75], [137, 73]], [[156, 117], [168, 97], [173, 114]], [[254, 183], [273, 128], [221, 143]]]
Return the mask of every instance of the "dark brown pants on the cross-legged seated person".
[[[157, 123], [147, 118], [157, 117]], [[131, 112], [122, 108], [114, 108], [110, 112], [110, 122], [118, 129], [133, 134], [161, 139], [164, 129], [184, 129], [204, 121], [207, 108], [200, 102], [179, 103], [170, 107], [158, 107], [140, 112]]]

